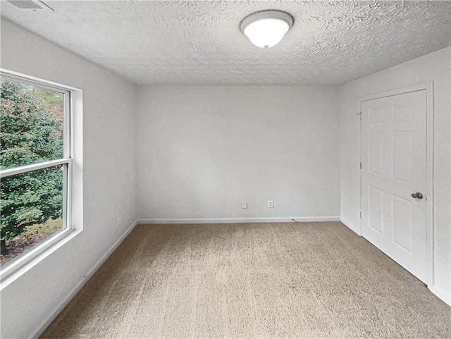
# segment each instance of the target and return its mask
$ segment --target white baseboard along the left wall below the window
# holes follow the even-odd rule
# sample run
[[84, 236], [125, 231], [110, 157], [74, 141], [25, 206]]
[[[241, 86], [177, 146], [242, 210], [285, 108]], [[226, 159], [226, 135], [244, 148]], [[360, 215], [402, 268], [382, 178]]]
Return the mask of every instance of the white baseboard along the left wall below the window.
[[119, 238], [116, 242], [114, 242], [113, 246], [111, 246], [110, 249], [99, 259], [99, 261], [97, 261], [97, 263], [92, 267], [92, 269], [87, 273], [87, 275], [84, 276], [82, 280], [79, 281], [77, 285], [75, 285], [75, 288], [73, 288], [73, 290], [69, 292], [66, 299], [63, 300], [63, 302], [61, 302], [61, 304], [55, 309], [55, 311], [47, 317], [47, 319], [42, 323], [41, 326], [39, 326], [39, 329], [35, 332], [35, 334], [30, 335], [30, 338], [39, 338], [39, 336], [42, 335], [42, 333], [44, 333], [44, 331], [47, 329], [47, 327], [49, 327], [51, 322], [56, 319], [56, 316], [58, 316], [58, 314], [60, 314], [63, 311], [63, 309], [69, 304], [70, 300], [72, 300], [73, 297], [75, 297], [75, 295], [78, 292], [80, 292], [85, 283], [87, 283], [87, 281], [89, 281], [89, 279], [94, 275], [94, 273], [96, 273], [96, 271], [100, 268], [100, 266], [104, 264], [104, 262], [106, 261], [106, 259], [108, 259], [111, 253], [113, 253], [114, 250], [118, 248], [119, 245], [121, 245], [121, 242], [123, 242], [123, 240], [127, 238], [127, 235], [130, 234], [130, 232], [133, 230], [133, 228], [135, 228], [135, 226], [137, 226], [137, 224], [138, 221], [135, 221], [127, 230], [125, 230], [123, 235], [121, 235], [121, 238]]

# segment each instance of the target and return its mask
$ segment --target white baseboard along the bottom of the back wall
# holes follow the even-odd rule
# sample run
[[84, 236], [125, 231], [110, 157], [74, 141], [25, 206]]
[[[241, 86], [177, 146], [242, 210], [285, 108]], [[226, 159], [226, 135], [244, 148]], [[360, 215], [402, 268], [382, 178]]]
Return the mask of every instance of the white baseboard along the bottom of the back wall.
[[287, 216], [279, 218], [161, 218], [140, 219], [138, 223], [305, 223], [315, 221], [340, 221], [339, 216]]

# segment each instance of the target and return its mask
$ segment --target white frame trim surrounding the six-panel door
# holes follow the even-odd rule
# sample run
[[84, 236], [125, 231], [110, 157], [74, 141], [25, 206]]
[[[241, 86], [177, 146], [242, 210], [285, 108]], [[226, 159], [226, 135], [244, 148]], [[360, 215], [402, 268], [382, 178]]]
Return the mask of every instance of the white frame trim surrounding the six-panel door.
[[359, 113], [359, 138], [357, 147], [359, 149], [359, 211], [360, 211], [360, 221], [359, 221], [359, 235], [362, 236], [362, 102], [369, 101], [373, 99], [381, 99], [384, 97], [393, 97], [399, 94], [407, 94], [411, 92], [418, 92], [421, 90], [426, 90], [426, 255], [428, 263], [428, 273], [426, 276], [426, 285], [431, 289], [433, 286], [433, 249], [434, 249], [434, 216], [433, 216], [433, 206], [434, 206], [434, 196], [433, 196], [433, 142], [434, 142], [434, 120], [433, 120], [433, 82], [424, 82], [418, 85], [412, 85], [408, 87], [398, 88], [396, 90], [390, 90], [388, 92], [381, 92], [375, 94], [369, 94], [364, 97], [359, 97], [358, 107]]

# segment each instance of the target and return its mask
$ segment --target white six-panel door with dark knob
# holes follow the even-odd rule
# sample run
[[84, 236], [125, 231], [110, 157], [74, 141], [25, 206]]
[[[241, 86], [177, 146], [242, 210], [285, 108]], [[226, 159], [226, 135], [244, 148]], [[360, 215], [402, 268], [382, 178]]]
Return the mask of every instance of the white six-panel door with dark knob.
[[362, 235], [427, 283], [426, 90], [362, 101], [361, 145]]

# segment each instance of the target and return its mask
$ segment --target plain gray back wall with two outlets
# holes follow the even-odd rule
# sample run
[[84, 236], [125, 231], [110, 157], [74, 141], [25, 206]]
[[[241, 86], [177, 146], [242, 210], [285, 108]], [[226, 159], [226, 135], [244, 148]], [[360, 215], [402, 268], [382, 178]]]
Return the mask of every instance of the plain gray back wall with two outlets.
[[140, 218], [339, 218], [335, 87], [147, 86], [138, 101]]

